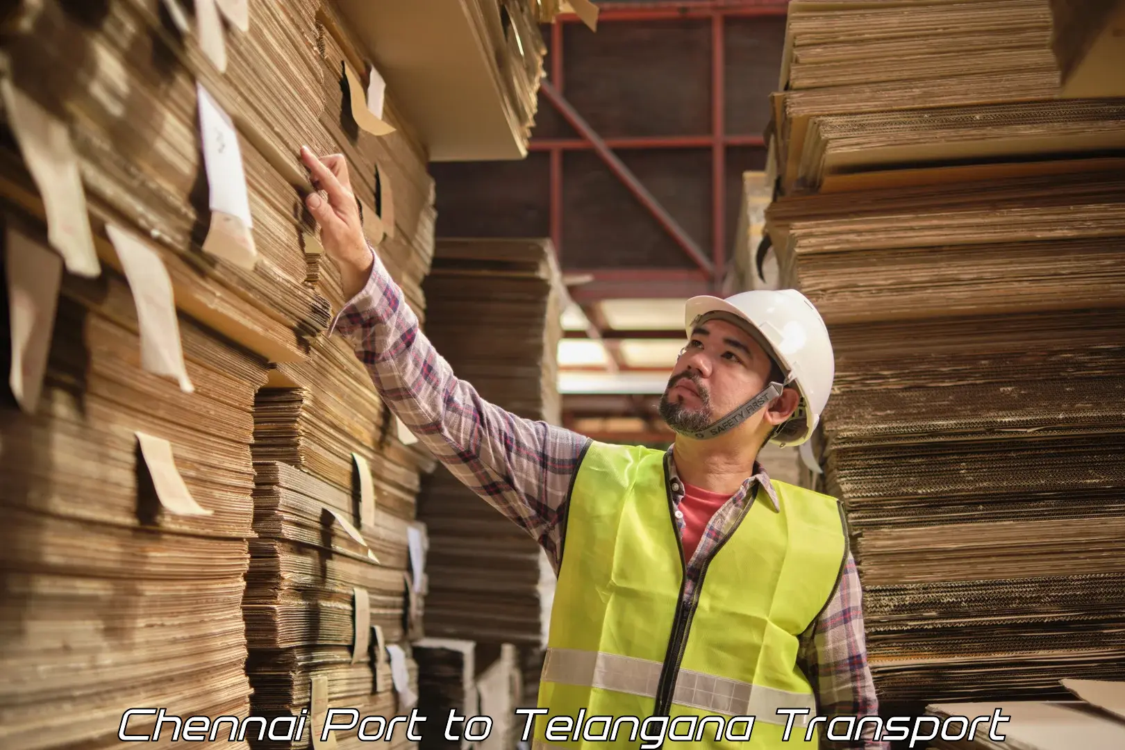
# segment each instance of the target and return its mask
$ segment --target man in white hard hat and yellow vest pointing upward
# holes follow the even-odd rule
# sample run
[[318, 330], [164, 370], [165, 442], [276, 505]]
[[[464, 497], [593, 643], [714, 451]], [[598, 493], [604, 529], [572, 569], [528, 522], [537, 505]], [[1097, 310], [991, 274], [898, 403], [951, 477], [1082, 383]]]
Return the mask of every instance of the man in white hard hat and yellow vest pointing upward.
[[[660, 404], [675, 444], [596, 443], [458, 379], [367, 245], [344, 160], [302, 159], [350, 299], [333, 328], [404, 424], [555, 566], [540, 705], [577, 730], [544, 733], [537, 719], [533, 747], [637, 748], [654, 735], [628, 717], [664, 716], [683, 717], [665, 721], [691, 747], [885, 748], [826, 741], [812, 722], [878, 714], [839, 504], [757, 462], [770, 440], [807, 440], [828, 399], [832, 352], [812, 305], [792, 290], [688, 300], [690, 341]], [[583, 724], [598, 715], [613, 728]], [[745, 720], [718, 723], [732, 716], [755, 716], [748, 741]]]

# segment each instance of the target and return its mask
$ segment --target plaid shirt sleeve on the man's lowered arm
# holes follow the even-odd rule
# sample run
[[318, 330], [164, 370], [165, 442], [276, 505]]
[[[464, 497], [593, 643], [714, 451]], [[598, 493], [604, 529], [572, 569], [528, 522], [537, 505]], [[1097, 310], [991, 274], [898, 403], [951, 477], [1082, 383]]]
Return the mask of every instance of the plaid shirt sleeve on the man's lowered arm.
[[[879, 698], [867, 665], [866, 634], [863, 624], [863, 591], [855, 559], [848, 553], [836, 595], [821, 613], [812, 632], [806, 635], [800, 654], [804, 674], [817, 694], [819, 715], [876, 716]], [[871, 739], [874, 728], [864, 724], [865, 740], [840, 742], [825, 735], [828, 721], [819, 725], [821, 746], [835, 750], [890, 750], [886, 741]], [[856, 720], [858, 721], [858, 720]], [[837, 732], [844, 732], [843, 728]], [[854, 731], [854, 730], [853, 730]]]

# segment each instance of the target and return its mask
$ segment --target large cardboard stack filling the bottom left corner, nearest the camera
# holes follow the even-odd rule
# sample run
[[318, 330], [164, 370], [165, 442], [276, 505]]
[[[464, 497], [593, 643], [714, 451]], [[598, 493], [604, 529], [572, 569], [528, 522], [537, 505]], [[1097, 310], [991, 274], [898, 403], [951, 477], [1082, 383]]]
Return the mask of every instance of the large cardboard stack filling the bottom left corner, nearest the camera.
[[[45, 227], [4, 209], [2, 349], [18, 407], [0, 406], [0, 746], [118, 747], [138, 706], [245, 717], [266, 363], [177, 319], [136, 235], [114, 228], [128, 280], [82, 279], [64, 274]], [[156, 350], [180, 352], [180, 378], [152, 371]], [[151, 735], [154, 722], [135, 715], [128, 731]]]

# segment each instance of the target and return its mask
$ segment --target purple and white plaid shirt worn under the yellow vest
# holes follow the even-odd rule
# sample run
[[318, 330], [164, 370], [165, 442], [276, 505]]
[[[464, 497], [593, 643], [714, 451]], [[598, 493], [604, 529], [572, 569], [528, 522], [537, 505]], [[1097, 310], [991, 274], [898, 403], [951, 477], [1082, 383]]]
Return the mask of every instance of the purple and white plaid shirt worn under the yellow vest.
[[[558, 572], [561, 521], [590, 439], [543, 422], [519, 417], [485, 401], [474, 387], [459, 380], [418, 327], [402, 290], [375, 255], [367, 286], [333, 320], [367, 367], [377, 390], [399, 419], [462, 484], [513, 521], [547, 552]], [[669, 449], [672, 495], [684, 487]], [[714, 514], [687, 562], [688, 587], [699, 580], [702, 563], [713, 554], [730, 522], [756, 486], [777, 506], [770, 477], [760, 466]], [[760, 500], [758, 500], [760, 501]], [[677, 517], [683, 532], [683, 519]], [[879, 712], [867, 666], [860, 578], [848, 553], [836, 595], [801, 639], [799, 665], [816, 690], [822, 716], [865, 716]], [[824, 737], [825, 724], [820, 725]], [[868, 732], [870, 734], [870, 732]], [[886, 750], [886, 742], [829, 742], [826, 748]]]

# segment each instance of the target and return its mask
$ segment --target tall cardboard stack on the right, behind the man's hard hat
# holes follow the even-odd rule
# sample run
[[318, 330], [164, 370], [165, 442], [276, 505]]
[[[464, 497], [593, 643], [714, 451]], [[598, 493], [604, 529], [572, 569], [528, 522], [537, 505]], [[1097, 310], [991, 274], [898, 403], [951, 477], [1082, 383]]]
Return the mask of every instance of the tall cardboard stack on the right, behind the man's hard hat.
[[1125, 657], [1125, 102], [1058, 100], [1050, 38], [1045, 1], [790, 6], [766, 231], [832, 335], [811, 448], [886, 703]]

